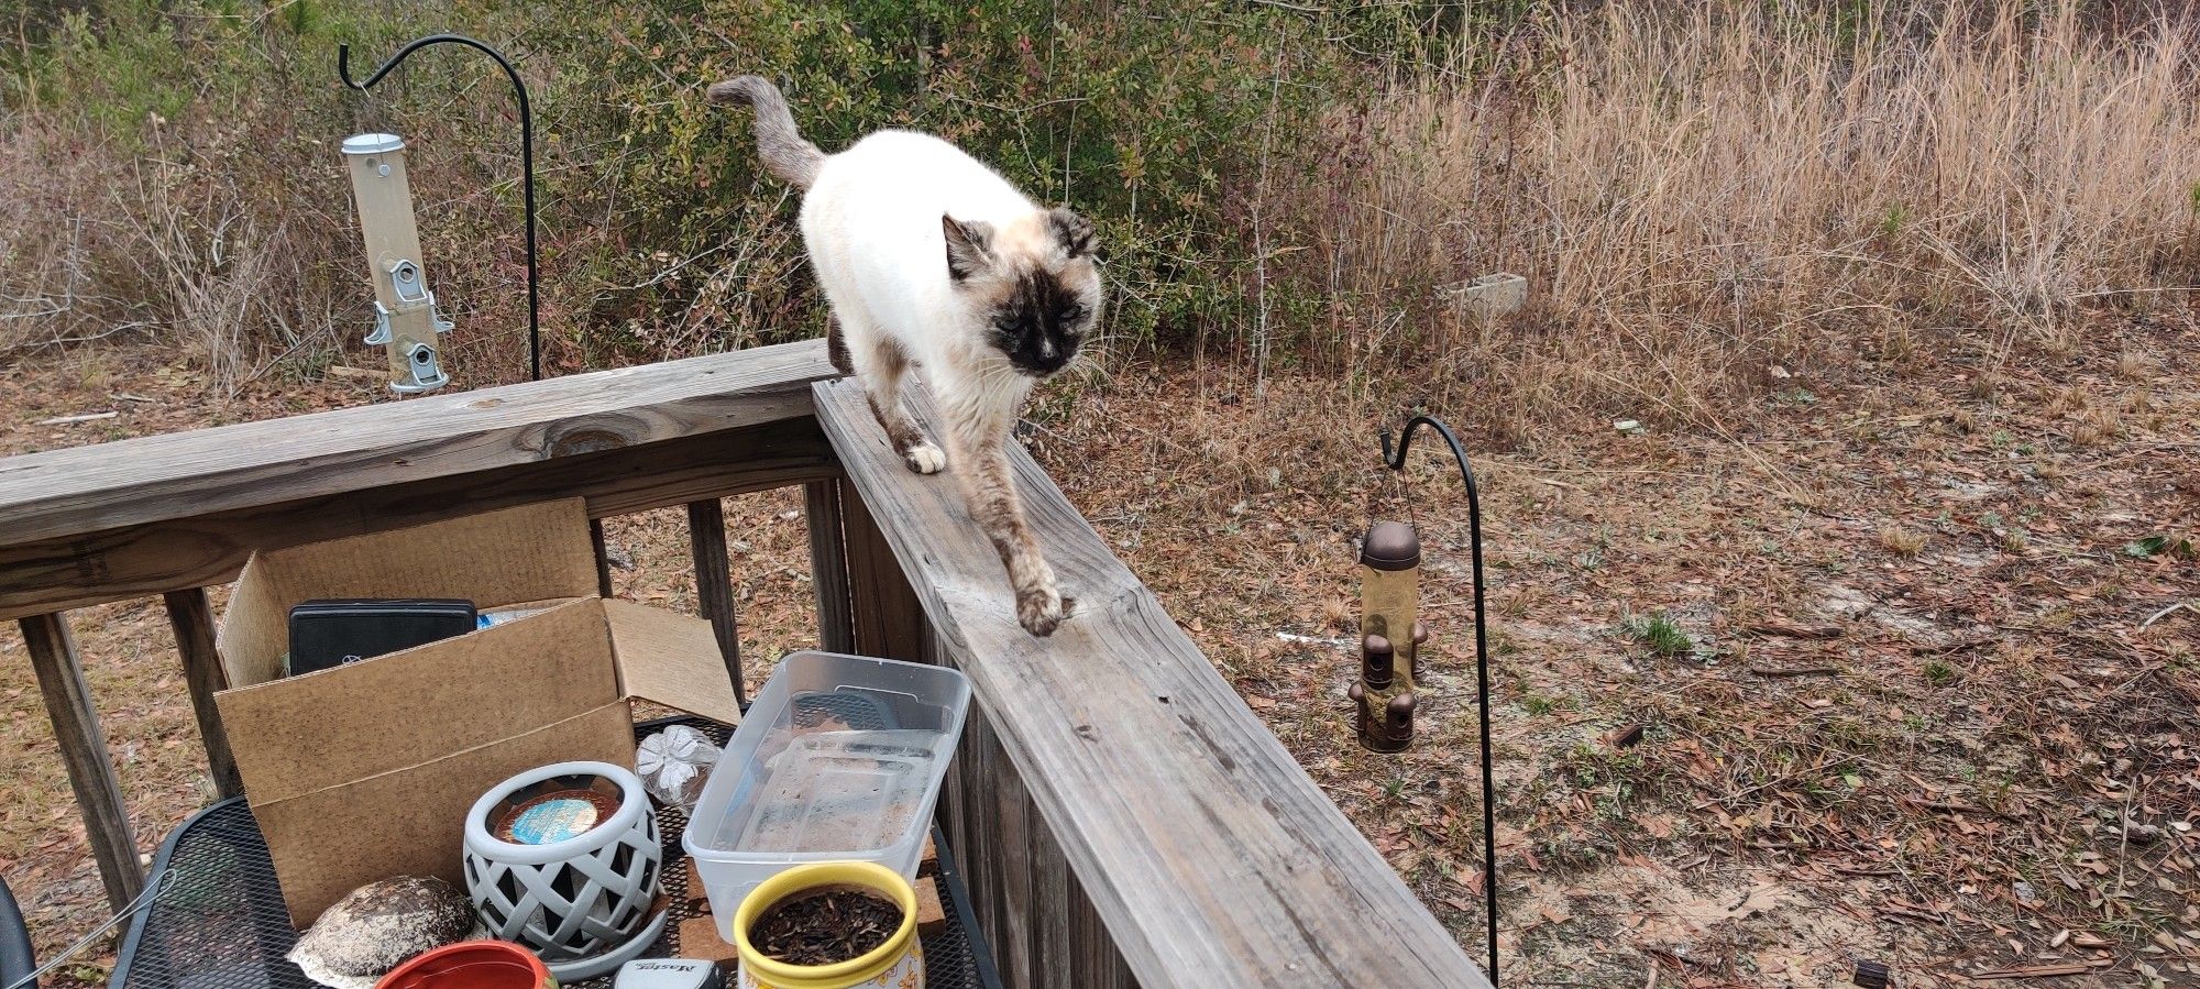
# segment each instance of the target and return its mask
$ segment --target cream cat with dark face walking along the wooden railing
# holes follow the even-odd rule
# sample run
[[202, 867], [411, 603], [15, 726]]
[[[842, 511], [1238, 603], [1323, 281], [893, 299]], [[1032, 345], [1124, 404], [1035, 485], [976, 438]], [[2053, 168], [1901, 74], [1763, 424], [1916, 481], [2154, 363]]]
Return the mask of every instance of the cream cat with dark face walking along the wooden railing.
[[[1052, 635], [1071, 602], [1025, 523], [1003, 446], [1032, 387], [1067, 367], [1100, 319], [1091, 222], [1032, 204], [931, 134], [882, 130], [818, 152], [779, 88], [755, 75], [711, 86], [711, 103], [748, 103], [766, 169], [803, 189], [834, 365], [862, 380], [909, 470], [955, 464], [970, 516], [1008, 567], [1016, 622]], [[946, 453], [902, 407], [909, 367], [939, 404]]]

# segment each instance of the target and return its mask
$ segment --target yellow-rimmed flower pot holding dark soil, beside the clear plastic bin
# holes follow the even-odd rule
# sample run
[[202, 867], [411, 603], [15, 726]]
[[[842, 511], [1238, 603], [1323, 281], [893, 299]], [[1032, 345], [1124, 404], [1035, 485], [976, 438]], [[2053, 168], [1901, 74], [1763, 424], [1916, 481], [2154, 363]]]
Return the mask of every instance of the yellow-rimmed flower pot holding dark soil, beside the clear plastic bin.
[[[832, 965], [788, 965], [766, 958], [748, 943], [748, 930], [766, 910], [801, 892], [825, 886], [858, 886], [893, 901], [902, 925], [884, 945]], [[917, 943], [917, 890], [900, 873], [876, 862], [816, 862], [779, 873], [741, 899], [733, 912], [733, 947], [741, 952], [741, 989], [924, 989], [924, 945]]]

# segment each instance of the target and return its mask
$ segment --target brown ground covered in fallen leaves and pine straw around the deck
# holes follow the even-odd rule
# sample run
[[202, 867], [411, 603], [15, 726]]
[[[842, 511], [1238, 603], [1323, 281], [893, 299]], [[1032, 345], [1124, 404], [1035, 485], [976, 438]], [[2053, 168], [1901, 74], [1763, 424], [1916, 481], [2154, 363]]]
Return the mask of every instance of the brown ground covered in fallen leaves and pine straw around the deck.
[[[2180, 543], [2200, 541], [2196, 352], [2176, 314], [1991, 387], [1932, 363], [1795, 376], [1712, 429], [1582, 426], [1483, 455], [1507, 985], [1817, 987], [1855, 958], [1907, 987], [2013, 969], [2035, 980], [1995, 985], [2200, 985], [2200, 563]], [[207, 409], [167, 360], [15, 367], [0, 451], [376, 398], [323, 380]], [[1351, 538], [1406, 512], [1373, 431], [1410, 389], [1250, 385], [1129, 367], [1049, 391], [1032, 446], [1478, 956], [1456, 479], [1417, 455], [1434, 677], [1412, 752], [1371, 756], [1333, 642]], [[1472, 396], [1439, 402], [1498, 433]], [[101, 409], [121, 415], [33, 426]], [[799, 505], [733, 503], [750, 657], [810, 644]], [[682, 525], [612, 525], [620, 596], [693, 604]], [[75, 629], [152, 848], [207, 798], [165, 620], [139, 602]], [[0, 873], [51, 952], [101, 897], [13, 633], [0, 703]], [[110, 960], [101, 945], [64, 985]], [[2086, 974], [2042, 976], [2059, 965]]]

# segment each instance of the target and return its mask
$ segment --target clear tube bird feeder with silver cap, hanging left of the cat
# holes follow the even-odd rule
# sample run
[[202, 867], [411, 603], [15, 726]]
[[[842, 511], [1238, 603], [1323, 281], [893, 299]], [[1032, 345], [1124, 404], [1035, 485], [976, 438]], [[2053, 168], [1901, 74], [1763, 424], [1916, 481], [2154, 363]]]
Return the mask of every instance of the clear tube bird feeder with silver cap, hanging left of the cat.
[[389, 356], [389, 389], [433, 391], [451, 382], [438, 336], [451, 323], [436, 312], [420, 264], [420, 229], [414, 226], [411, 182], [405, 178], [405, 141], [396, 134], [343, 138], [359, 200], [359, 233], [367, 248], [367, 281], [374, 284], [374, 332], [367, 345]]

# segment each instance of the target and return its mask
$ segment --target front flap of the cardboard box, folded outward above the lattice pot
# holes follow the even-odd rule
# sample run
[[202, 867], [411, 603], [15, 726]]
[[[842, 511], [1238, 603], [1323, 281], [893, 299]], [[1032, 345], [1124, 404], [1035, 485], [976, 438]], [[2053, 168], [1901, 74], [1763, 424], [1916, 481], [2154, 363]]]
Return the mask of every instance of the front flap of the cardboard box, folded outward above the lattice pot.
[[[605, 629], [603, 600], [581, 598], [403, 653], [222, 690], [216, 703], [260, 807], [616, 703]], [[719, 668], [722, 686], [724, 677]]]

